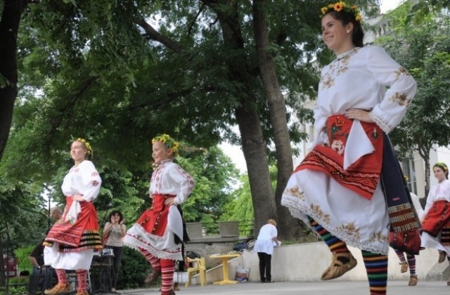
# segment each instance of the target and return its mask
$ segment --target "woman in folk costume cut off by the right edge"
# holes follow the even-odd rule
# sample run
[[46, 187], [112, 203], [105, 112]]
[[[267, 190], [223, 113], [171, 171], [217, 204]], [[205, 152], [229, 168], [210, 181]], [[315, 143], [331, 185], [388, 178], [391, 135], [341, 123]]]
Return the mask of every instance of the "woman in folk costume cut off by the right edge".
[[[437, 185], [428, 192], [422, 218], [422, 247], [439, 250], [439, 263], [450, 262], [450, 181], [449, 168], [438, 162], [433, 166]], [[450, 286], [450, 281], [447, 282]]]

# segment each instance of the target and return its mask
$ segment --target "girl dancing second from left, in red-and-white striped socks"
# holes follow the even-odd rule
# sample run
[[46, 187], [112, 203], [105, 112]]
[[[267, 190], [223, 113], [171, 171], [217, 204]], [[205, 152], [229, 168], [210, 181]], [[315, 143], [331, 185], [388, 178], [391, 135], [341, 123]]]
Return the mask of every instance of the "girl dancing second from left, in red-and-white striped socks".
[[162, 295], [174, 295], [172, 287], [175, 265], [181, 260], [183, 221], [177, 205], [191, 194], [195, 181], [178, 164], [173, 162], [179, 143], [167, 134], [152, 140], [157, 168], [150, 181], [150, 198], [153, 204], [127, 231], [124, 244], [138, 249], [152, 265], [153, 271], [146, 283], [162, 277]]

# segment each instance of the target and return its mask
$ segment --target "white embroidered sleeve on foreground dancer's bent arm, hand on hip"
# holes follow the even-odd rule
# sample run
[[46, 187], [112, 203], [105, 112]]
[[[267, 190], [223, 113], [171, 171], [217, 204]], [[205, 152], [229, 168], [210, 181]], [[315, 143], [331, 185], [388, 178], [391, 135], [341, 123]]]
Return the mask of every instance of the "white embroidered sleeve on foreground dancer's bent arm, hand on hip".
[[400, 124], [416, 95], [416, 81], [379, 46], [370, 46], [366, 58], [368, 71], [373, 73], [378, 83], [389, 86], [383, 100], [370, 113], [373, 121], [389, 133]]

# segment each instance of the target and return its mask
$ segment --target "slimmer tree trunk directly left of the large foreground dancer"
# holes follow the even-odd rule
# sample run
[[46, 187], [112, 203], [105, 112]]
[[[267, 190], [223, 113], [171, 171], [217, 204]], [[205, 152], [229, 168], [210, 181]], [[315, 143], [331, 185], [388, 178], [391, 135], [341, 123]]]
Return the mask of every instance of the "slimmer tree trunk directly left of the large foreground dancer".
[[[300, 220], [293, 218], [289, 209], [281, 206], [281, 196], [289, 177], [293, 172], [293, 154], [290, 149], [290, 137], [288, 120], [286, 118], [286, 106], [281, 93], [276, 74], [273, 56], [269, 53], [269, 31], [264, 16], [265, 0], [253, 0], [253, 30], [259, 60], [259, 72], [264, 84], [264, 92], [269, 102], [269, 112], [274, 131], [274, 143], [276, 149], [276, 162], [278, 177], [276, 183], [275, 200], [278, 215], [278, 228], [281, 239], [293, 240], [302, 235]], [[293, 226], [297, 224], [300, 226]]]

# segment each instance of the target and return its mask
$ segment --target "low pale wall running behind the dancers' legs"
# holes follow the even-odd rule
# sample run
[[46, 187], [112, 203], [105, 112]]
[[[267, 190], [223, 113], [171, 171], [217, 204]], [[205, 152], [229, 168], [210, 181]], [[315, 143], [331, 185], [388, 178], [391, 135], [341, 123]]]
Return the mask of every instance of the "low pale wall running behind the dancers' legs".
[[[349, 249], [358, 261], [358, 265], [335, 280], [367, 280], [361, 251], [353, 247], [349, 247]], [[420, 255], [416, 256], [416, 273], [419, 280], [441, 279], [432, 275], [437, 268], [438, 256], [439, 254], [434, 249], [425, 249], [420, 251]], [[318, 281], [330, 263], [331, 254], [323, 242], [278, 247], [274, 249], [274, 255], [272, 256], [272, 280], [276, 282]], [[255, 252], [243, 251], [242, 256], [229, 261], [229, 278], [231, 280], [236, 275], [236, 266], [239, 265], [250, 269], [249, 281], [259, 282], [259, 260]], [[439, 268], [443, 271], [448, 265], [449, 263], [444, 262], [439, 265]], [[409, 272], [400, 273], [399, 258], [392, 249], [389, 252], [387, 273], [389, 280], [409, 280]], [[207, 270], [207, 284], [222, 280], [222, 277], [221, 265]], [[195, 284], [195, 280], [193, 280], [193, 284]]]

